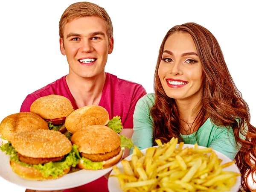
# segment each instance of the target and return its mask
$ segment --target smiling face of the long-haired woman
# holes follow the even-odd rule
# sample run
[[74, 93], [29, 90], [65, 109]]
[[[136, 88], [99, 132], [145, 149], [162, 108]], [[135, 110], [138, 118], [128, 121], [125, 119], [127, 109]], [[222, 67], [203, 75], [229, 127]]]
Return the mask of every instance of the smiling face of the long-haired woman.
[[167, 38], [158, 76], [170, 98], [201, 98], [203, 71], [191, 35], [176, 32]]

